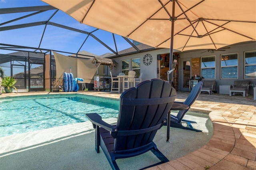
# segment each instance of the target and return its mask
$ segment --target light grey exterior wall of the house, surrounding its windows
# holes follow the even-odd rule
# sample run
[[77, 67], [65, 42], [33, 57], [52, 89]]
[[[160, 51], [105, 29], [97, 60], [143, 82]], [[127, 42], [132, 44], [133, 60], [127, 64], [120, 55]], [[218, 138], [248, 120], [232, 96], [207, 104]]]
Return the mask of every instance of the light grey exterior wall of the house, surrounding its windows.
[[[230, 46], [230, 48], [225, 49], [225, 51], [214, 51], [214, 53], [210, 53], [206, 49], [202, 49], [200, 51], [193, 51], [193, 52], [180, 52], [179, 53], [179, 59], [178, 59], [178, 67], [181, 68], [181, 62], [180, 59], [189, 59], [189, 58], [200, 58], [201, 57], [206, 57], [206, 56], [216, 56], [215, 61], [216, 61], [216, 67], [215, 67], [215, 79], [216, 80], [216, 91], [219, 93], [219, 85], [233, 85], [234, 80], [244, 80], [244, 52], [245, 51], [256, 51], [256, 42], [249, 42], [249, 43], [244, 43], [241, 45], [233, 45]], [[176, 52], [174, 50], [174, 52]], [[204, 53], [202, 53], [204, 52]], [[123, 57], [117, 57], [114, 58], [114, 60], [118, 63], [117, 67], [112, 69], [112, 73], [114, 76], [118, 75], [121, 70], [122, 70], [122, 60], [129, 59], [131, 62], [131, 59], [138, 58], [140, 57], [140, 72], [143, 73], [142, 75], [142, 81], [145, 80], [150, 80], [154, 78], [159, 78], [157, 69], [158, 69], [158, 60], [157, 60], [157, 55], [158, 54], [164, 54], [164, 53], [170, 53], [170, 49], [157, 49], [153, 51], [148, 51], [144, 53], [138, 53], [138, 54], [133, 54], [133, 55], [127, 55]], [[221, 79], [220, 78], [220, 59], [222, 54], [229, 54], [229, 53], [238, 53], [238, 79]], [[150, 65], [144, 65], [143, 63], [143, 57], [146, 54], [152, 55], [152, 63]], [[201, 60], [200, 60], [201, 62]], [[132, 70], [131, 64], [129, 64], [129, 70]], [[196, 69], [197, 70], [197, 69]], [[159, 68], [160, 71], [160, 68]], [[193, 68], [191, 68], [191, 74], [192, 74]], [[178, 75], [181, 76], [180, 69], [178, 70]], [[109, 73], [108, 73], [109, 75]], [[201, 68], [200, 68], [200, 74], [201, 75]], [[179, 77], [179, 79], [182, 79], [182, 77]], [[205, 79], [207, 80], [207, 79]], [[210, 79], [209, 79], [210, 80]], [[211, 79], [212, 80], [212, 79]], [[246, 79], [248, 80], [248, 79]], [[253, 94], [253, 87], [256, 86], [256, 79], [250, 79], [250, 87], [249, 87], [249, 94]], [[179, 88], [180, 90], [180, 88]]]

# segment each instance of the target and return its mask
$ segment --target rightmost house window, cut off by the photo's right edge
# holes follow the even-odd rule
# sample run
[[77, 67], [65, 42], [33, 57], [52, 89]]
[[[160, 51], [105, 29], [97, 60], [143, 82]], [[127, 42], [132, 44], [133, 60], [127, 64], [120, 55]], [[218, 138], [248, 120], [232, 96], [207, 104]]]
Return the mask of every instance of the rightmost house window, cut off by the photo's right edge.
[[256, 51], [244, 52], [244, 78], [256, 79]]

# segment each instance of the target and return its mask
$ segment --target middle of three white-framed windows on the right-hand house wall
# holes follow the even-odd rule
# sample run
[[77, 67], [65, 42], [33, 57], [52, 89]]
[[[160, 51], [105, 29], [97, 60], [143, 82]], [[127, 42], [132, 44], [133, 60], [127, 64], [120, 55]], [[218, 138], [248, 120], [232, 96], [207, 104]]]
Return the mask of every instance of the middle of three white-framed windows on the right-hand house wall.
[[238, 78], [238, 53], [221, 55], [221, 79]]

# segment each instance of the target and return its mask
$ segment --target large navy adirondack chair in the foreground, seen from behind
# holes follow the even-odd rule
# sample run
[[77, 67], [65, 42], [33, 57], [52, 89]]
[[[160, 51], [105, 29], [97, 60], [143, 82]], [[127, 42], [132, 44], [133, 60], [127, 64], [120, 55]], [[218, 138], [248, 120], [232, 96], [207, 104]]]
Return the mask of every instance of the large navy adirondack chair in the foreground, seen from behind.
[[122, 93], [117, 125], [105, 123], [97, 113], [86, 114], [96, 128], [96, 151], [100, 152], [99, 146], [102, 148], [112, 169], [119, 169], [116, 159], [137, 156], [149, 150], [161, 160], [157, 164], [168, 162], [153, 138], [166, 123], [175, 99], [176, 91], [170, 83], [152, 79]]

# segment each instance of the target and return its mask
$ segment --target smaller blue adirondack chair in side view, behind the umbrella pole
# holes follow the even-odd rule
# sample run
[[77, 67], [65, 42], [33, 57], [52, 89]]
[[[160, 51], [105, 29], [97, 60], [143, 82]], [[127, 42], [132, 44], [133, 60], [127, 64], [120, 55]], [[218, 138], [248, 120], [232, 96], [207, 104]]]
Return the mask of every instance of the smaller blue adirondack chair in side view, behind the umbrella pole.
[[[197, 97], [200, 95], [201, 89], [202, 89], [203, 83], [202, 81], [199, 81], [191, 90], [190, 94], [188, 95], [187, 99], [184, 102], [178, 102], [174, 101], [175, 103], [183, 103], [185, 105], [188, 105], [189, 108], [186, 110], [181, 110], [178, 112], [176, 116], [171, 114], [171, 127], [176, 128], [182, 128], [182, 129], [188, 129], [188, 130], [194, 130], [197, 132], [202, 132], [202, 130], [198, 130], [192, 127], [191, 123], [196, 123], [195, 121], [188, 121], [183, 119], [184, 115], [187, 113], [187, 111], [190, 109], [190, 106], [196, 101]], [[186, 122], [189, 127], [182, 126], [182, 121]]]

